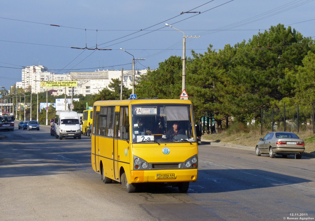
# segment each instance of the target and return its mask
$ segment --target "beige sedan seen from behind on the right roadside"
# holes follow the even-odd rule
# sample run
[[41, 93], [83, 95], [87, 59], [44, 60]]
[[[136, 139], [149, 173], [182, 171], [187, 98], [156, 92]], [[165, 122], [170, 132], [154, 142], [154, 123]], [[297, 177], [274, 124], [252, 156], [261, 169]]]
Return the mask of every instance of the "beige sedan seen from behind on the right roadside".
[[288, 155], [295, 155], [295, 159], [301, 159], [305, 151], [304, 140], [296, 134], [289, 132], [271, 132], [256, 145], [256, 155], [269, 154], [271, 158], [276, 155], [282, 155], [286, 158]]

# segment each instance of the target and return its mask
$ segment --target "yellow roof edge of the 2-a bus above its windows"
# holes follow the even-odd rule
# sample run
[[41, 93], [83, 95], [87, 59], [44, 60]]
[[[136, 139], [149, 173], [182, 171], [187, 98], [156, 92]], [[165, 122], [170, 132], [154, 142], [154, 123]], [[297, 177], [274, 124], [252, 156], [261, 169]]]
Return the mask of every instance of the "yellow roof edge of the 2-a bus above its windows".
[[100, 100], [95, 101], [94, 106], [102, 105], [135, 105], [135, 104], [192, 104], [184, 99], [128, 99], [128, 100]]

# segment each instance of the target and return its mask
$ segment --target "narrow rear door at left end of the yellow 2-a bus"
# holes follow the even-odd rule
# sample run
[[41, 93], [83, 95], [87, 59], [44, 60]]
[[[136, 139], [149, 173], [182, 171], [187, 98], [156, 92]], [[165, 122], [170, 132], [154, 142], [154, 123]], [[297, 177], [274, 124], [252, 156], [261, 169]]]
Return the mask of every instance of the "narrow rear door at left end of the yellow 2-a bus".
[[[99, 149], [99, 131], [100, 131], [100, 106], [97, 106], [96, 111], [94, 111], [95, 113], [95, 122], [93, 123], [93, 128], [92, 128], [92, 134], [94, 136], [92, 136], [92, 146], [94, 146], [94, 152], [95, 152], [95, 170], [96, 171], [100, 171], [100, 164], [99, 164], [99, 153], [100, 153], [100, 149]], [[93, 139], [94, 138], [94, 139]], [[94, 143], [94, 144], [93, 144]]]

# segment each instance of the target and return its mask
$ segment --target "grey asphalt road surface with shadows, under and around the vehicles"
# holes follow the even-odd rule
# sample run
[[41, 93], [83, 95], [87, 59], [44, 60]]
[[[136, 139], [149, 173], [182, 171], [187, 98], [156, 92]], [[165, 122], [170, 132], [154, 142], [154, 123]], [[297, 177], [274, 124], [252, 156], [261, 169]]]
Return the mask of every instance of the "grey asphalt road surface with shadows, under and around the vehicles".
[[153, 184], [129, 194], [92, 170], [89, 137], [59, 140], [49, 129], [1, 132], [0, 220], [315, 218], [314, 158], [201, 145], [187, 194]]

